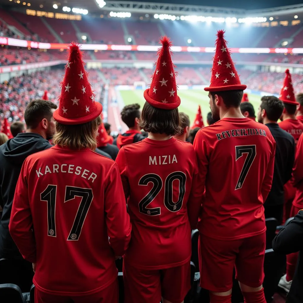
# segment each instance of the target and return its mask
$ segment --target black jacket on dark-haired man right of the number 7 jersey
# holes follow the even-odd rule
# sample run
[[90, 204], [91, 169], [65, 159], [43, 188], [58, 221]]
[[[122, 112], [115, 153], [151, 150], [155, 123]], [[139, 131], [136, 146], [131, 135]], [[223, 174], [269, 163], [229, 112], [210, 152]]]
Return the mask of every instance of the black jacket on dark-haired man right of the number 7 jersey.
[[295, 140], [277, 123], [267, 123], [271, 135], [276, 141], [275, 167], [271, 191], [264, 203], [266, 205], [281, 205], [284, 203], [284, 184], [290, 180], [295, 161]]

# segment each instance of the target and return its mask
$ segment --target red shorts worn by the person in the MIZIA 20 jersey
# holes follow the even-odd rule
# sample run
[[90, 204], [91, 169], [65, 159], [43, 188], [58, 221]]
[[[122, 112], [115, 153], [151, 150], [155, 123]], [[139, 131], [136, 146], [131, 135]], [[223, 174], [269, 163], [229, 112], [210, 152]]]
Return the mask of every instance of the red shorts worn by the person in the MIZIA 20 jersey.
[[180, 303], [190, 290], [190, 261], [159, 270], [145, 270], [123, 262], [125, 303], [155, 303], [161, 296]]

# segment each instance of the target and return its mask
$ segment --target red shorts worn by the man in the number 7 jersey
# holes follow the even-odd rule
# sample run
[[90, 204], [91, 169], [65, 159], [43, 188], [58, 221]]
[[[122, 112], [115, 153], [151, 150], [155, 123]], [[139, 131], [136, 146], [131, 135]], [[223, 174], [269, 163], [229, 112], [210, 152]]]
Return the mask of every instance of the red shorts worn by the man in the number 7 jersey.
[[200, 285], [213, 292], [232, 288], [233, 271], [236, 279], [250, 287], [263, 283], [265, 233], [240, 240], [222, 241], [199, 235]]

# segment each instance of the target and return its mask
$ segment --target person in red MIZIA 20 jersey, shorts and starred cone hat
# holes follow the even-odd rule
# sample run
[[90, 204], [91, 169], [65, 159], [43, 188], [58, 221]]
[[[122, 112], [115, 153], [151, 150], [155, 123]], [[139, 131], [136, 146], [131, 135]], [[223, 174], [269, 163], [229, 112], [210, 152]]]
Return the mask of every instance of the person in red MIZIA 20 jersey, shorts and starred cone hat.
[[125, 303], [181, 303], [190, 289], [191, 228], [203, 189], [192, 145], [172, 137], [180, 133], [180, 98], [171, 43], [161, 43], [139, 125], [148, 137], [116, 158], [133, 226], [123, 262]]

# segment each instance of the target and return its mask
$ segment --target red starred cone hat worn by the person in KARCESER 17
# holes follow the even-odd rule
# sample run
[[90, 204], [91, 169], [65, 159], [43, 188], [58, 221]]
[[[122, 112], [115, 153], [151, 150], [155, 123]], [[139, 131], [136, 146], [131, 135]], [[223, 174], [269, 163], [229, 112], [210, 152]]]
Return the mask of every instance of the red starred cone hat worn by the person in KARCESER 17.
[[54, 112], [54, 119], [62, 124], [83, 124], [97, 118], [102, 112], [102, 105], [95, 102], [79, 45], [71, 42], [68, 52], [59, 107]]

